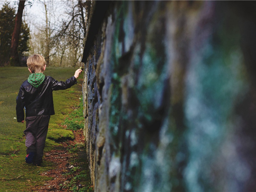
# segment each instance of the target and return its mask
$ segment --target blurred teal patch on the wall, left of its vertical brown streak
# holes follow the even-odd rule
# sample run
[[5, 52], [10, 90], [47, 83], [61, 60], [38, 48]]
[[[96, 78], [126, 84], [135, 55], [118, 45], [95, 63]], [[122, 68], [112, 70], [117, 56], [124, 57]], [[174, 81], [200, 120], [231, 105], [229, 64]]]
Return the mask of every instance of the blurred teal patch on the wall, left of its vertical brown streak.
[[158, 30], [158, 26], [164, 24], [158, 15], [152, 16], [145, 42], [140, 41], [140, 45], [137, 44], [133, 57], [135, 73], [139, 74], [134, 87], [140, 103], [138, 117], [147, 124], [151, 124], [159, 116], [159, 109], [164, 101], [164, 86], [168, 79], [165, 45], [164, 41], [159, 40], [164, 32]]

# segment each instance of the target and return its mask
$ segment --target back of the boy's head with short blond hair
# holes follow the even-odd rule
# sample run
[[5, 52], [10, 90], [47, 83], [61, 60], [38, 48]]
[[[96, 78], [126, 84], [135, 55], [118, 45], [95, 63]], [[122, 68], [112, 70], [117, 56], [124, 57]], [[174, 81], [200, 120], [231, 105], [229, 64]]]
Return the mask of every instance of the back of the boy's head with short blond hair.
[[34, 54], [28, 57], [27, 66], [32, 73], [42, 73], [44, 71], [45, 60], [42, 55]]

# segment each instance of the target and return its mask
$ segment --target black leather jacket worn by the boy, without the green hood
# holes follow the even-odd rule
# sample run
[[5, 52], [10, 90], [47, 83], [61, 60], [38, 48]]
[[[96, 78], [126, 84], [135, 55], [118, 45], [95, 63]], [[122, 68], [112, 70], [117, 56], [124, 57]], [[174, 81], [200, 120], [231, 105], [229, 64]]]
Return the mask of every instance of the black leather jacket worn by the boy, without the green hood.
[[75, 76], [70, 77], [65, 82], [46, 76], [38, 88], [33, 87], [28, 83], [28, 80], [24, 81], [16, 99], [17, 121], [24, 120], [24, 107], [26, 117], [54, 115], [52, 91], [68, 89], [76, 83]]

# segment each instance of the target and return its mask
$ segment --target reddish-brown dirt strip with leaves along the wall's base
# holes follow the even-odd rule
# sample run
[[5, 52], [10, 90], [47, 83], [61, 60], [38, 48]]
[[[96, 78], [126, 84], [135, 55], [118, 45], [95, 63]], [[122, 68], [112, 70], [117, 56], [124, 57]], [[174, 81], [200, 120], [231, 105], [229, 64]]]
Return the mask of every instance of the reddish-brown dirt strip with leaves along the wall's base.
[[50, 162], [55, 168], [41, 175], [52, 179], [44, 183], [44, 186], [35, 186], [32, 191], [93, 191], [83, 130], [73, 133], [75, 140], [62, 142], [63, 149], [45, 153], [44, 161]]

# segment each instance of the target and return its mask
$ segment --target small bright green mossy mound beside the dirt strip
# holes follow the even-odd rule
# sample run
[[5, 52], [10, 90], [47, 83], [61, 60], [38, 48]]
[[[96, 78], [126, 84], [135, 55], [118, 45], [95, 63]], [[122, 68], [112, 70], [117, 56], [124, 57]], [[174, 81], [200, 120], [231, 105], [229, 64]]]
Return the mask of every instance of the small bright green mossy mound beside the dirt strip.
[[75, 136], [72, 131], [66, 129], [52, 129], [47, 133], [47, 138], [57, 142], [65, 140], [73, 140]]

